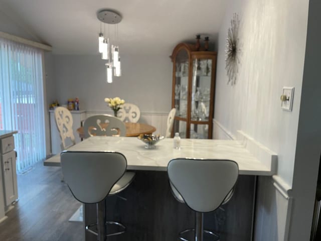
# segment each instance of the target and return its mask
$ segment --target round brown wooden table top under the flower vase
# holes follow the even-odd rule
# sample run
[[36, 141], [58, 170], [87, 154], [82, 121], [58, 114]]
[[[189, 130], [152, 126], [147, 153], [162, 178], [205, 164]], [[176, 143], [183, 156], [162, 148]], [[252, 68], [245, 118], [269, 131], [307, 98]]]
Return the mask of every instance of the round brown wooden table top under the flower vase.
[[[149, 126], [143, 123], [131, 123], [125, 122], [126, 127], [126, 137], [138, 137], [140, 134], [151, 134], [156, 131], [156, 128], [153, 126]], [[103, 123], [101, 124], [102, 128], [105, 128], [108, 124]], [[84, 129], [80, 127], [77, 129], [77, 133], [79, 134], [80, 138], [84, 138]]]

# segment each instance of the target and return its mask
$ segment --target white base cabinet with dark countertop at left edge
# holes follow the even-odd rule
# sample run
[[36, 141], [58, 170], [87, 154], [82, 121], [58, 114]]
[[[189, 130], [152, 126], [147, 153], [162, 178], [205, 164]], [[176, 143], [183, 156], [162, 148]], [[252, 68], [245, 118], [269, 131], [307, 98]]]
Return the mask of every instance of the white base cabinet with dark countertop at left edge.
[[17, 170], [15, 152], [16, 131], [0, 131], [0, 221], [6, 218], [5, 212], [18, 199]]

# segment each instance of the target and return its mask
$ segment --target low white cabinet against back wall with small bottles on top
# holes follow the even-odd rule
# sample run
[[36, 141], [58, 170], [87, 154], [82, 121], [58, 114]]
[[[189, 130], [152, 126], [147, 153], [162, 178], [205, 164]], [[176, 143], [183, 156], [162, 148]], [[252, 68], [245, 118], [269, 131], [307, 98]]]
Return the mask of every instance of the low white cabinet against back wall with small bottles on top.
[[[56, 125], [55, 119], [55, 110], [49, 110], [50, 112], [50, 134], [51, 134], [51, 153], [58, 154], [61, 150], [61, 139], [59, 135], [59, 131]], [[82, 122], [86, 119], [86, 111], [85, 110], [71, 110], [71, 115], [73, 119], [72, 130], [74, 132], [76, 143], [81, 142], [81, 139], [77, 133], [77, 129], [81, 127]], [[66, 140], [66, 146], [70, 146], [71, 141]]]

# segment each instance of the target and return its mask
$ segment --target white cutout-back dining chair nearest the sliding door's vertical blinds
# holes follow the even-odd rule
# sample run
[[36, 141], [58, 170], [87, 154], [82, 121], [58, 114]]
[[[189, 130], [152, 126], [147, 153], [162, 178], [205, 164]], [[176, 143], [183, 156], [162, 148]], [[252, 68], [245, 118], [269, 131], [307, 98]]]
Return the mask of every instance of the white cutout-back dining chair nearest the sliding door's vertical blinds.
[[[76, 144], [75, 136], [72, 130], [73, 118], [70, 111], [62, 106], [55, 108], [55, 120], [61, 139], [61, 150], [66, 150]], [[70, 138], [71, 145], [66, 145], [66, 140]]]

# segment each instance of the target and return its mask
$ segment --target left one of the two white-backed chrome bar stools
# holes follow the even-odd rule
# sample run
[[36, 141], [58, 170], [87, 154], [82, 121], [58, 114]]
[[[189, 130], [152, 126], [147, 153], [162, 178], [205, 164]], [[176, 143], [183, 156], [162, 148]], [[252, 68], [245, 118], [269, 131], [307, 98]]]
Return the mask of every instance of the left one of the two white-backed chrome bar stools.
[[[135, 173], [126, 172], [127, 161], [117, 152], [73, 152], [61, 153], [61, 168], [65, 182], [74, 197], [82, 203], [97, 204], [97, 222], [86, 226], [86, 230], [97, 235], [99, 241], [107, 236], [125, 232], [125, 226], [114, 221], [106, 222], [105, 198], [124, 190]], [[108, 233], [106, 224], [120, 227], [120, 231]]]

